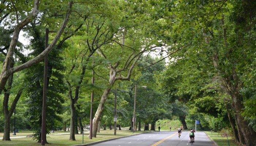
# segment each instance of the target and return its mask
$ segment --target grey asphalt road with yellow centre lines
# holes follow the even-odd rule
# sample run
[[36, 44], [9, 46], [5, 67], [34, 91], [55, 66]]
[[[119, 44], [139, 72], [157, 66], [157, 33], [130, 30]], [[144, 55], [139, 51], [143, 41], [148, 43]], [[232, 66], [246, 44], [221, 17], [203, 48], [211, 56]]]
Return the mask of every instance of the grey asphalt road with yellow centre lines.
[[[181, 137], [174, 131], [151, 132], [98, 143], [93, 146], [188, 146], [189, 132], [183, 131]], [[194, 146], [215, 146], [204, 132], [195, 133]]]

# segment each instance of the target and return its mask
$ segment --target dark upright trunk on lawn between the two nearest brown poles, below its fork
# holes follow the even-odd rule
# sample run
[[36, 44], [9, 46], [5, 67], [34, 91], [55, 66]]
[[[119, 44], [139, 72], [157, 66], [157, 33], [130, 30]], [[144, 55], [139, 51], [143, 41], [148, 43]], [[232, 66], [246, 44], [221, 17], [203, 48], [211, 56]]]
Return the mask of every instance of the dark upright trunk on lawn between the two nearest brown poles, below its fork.
[[71, 115], [70, 115], [70, 137], [69, 140], [75, 141], [75, 114], [76, 114], [76, 109], [74, 105], [74, 100], [70, 99], [70, 110], [71, 110]]

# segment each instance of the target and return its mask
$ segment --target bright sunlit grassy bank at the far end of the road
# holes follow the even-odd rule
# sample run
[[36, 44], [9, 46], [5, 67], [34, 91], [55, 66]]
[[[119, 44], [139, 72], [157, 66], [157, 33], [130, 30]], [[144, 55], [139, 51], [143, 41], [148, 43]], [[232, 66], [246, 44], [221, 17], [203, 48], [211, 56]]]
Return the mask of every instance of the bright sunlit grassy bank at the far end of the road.
[[173, 130], [178, 130], [178, 128], [180, 128], [181, 126], [181, 122], [180, 120], [158, 120], [156, 123], [155, 123], [155, 128], [156, 130], [158, 130], [158, 126], [161, 127], [160, 130], [170, 130], [170, 127], [172, 127], [172, 131]]

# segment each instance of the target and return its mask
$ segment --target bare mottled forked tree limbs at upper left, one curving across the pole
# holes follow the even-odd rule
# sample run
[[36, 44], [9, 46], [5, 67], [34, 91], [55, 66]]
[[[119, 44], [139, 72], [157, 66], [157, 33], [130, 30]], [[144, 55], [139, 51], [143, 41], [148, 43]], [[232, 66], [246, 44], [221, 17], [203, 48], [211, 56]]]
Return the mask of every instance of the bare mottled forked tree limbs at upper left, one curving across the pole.
[[[16, 5], [18, 5], [18, 3]], [[22, 21], [20, 21], [20, 22], [19, 22], [18, 12], [16, 12], [16, 22], [17, 22], [17, 24], [15, 26], [15, 29], [14, 29], [14, 32], [13, 32], [13, 35], [12, 35], [12, 41], [11, 41], [10, 46], [8, 48], [8, 52], [7, 52], [5, 61], [4, 61], [3, 69], [2, 69], [1, 75], [0, 75], [0, 93], [3, 91], [4, 86], [5, 86], [8, 78], [9, 78], [9, 76], [11, 76], [11, 74], [13, 74], [15, 72], [19, 72], [20, 70], [23, 70], [25, 68], [28, 68], [29, 66], [32, 66], [32, 65], [38, 63], [56, 45], [57, 41], [59, 40], [62, 32], [64, 31], [64, 29], [67, 25], [68, 18], [69, 18], [69, 15], [71, 13], [72, 2], [68, 3], [67, 13], [65, 14], [65, 18], [63, 20], [63, 23], [62, 23], [59, 31], [57, 32], [56, 37], [53, 39], [52, 43], [50, 43], [50, 45], [41, 54], [39, 54], [37, 57], [34, 57], [30, 61], [27, 61], [26, 63], [24, 63], [22, 65], [15, 66], [15, 67], [12, 68], [11, 67], [12, 57], [14, 55], [15, 47], [16, 47], [16, 44], [18, 42], [19, 33], [20, 33], [20, 31], [22, 30], [23, 27], [27, 26], [27, 24], [31, 23], [37, 17], [37, 14], [39, 12], [39, 10], [38, 10], [39, 0], [35, 0], [33, 4], [27, 3], [27, 7], [30, 7], [33, 10], [31, 11], [31, 13], [29, 12], [31, 9], [28, 12], [22, 11], [22, 14], [27, 14], [27, 15], [23, 16]], [[7, 19], [7, 18], [5, 18], [5, 19]]]

